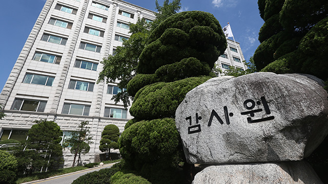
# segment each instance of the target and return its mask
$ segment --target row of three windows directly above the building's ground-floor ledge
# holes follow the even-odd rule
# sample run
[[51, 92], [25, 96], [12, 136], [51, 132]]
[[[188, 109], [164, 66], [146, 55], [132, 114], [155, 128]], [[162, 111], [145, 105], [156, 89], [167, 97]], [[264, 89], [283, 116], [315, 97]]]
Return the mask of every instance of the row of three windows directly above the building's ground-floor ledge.
[[[47, 101], [29, 100], [16, 98], [11, 106], [11, 110], [25, 110], [34, 112], [44, 112]], [[89, 116], [90, 105], [64, 103], [63, 114]], [[105, 107], [104, 117], [127, 119], [127, 110], [120, 108]]]

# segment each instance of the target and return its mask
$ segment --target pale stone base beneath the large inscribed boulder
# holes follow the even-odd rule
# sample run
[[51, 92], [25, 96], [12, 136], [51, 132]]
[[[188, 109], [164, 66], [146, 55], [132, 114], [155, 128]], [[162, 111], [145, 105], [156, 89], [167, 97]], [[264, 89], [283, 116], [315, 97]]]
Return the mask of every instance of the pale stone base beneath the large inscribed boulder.
[[305, 161], [209, 166], [197, 173], [192, 184], [322, 183]]

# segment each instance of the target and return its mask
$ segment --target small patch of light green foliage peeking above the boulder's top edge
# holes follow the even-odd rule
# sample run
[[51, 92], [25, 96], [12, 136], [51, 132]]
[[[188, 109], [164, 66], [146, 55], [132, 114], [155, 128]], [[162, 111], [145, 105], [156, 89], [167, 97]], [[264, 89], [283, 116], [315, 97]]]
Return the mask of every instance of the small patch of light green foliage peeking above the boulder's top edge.
[[242, 61], [244, 65], [247, 67], [246, 70], [241, 70], [241, 68], [229, 66], [229, 69], [224, 71], [224, 75], [226, 76], [234, 76], [239, 77], [246, 74], [252, 74], [256, 72], [256, 66], [254, 64], [253, 57], [250, 58], [249, 62]]

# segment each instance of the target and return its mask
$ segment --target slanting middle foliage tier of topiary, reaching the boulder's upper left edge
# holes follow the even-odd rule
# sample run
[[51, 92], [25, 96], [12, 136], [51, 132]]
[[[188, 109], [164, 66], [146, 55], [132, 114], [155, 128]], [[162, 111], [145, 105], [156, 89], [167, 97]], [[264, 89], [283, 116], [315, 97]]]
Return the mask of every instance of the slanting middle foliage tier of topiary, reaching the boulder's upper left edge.
[[191, 77], [170, 83], [159, 82], [145, 86], [136, 94], [130, 113], [140, 120], [173, 118], [186, 94], [211, 77]]

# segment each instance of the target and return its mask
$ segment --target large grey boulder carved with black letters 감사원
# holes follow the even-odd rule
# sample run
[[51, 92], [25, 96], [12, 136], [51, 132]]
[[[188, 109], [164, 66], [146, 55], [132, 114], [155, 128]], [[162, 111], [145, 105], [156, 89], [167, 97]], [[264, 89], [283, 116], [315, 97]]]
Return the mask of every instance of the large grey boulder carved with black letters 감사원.
[[320, 79], [254, 73], [197, 86], [177, 108], [175, 120], [189, 163], [236, 164], [302, 160], [327, 135], [327, 116]]

